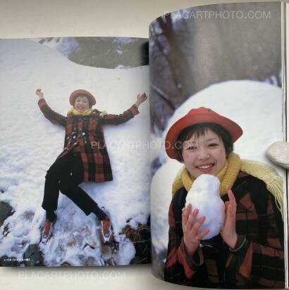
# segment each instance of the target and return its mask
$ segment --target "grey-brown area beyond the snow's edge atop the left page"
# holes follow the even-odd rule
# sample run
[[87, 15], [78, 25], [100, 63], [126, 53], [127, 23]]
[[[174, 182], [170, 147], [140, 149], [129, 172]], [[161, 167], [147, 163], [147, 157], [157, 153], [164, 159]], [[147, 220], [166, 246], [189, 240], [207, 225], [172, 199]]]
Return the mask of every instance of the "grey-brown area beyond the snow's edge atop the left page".
[[148, 65], [148, 39], [130, 37], [44, 37], [27, 39], [94, 68], [135, 68]]

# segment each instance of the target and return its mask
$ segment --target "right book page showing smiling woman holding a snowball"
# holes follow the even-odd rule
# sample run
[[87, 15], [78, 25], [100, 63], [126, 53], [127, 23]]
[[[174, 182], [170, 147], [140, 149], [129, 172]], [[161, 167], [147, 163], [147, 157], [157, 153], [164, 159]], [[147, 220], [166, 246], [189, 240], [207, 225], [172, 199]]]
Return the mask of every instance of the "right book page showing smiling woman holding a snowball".
[[[280, 3], [218, 4], [149, 27], [152, 140], [161, 144], [151, 156], [152, 272], [166, 282], [285, 287], [285, 170], [266, 155], [285, 141], [281, 20]], [[205, 194], [215, 191], [210, 176], [219, 206]]]

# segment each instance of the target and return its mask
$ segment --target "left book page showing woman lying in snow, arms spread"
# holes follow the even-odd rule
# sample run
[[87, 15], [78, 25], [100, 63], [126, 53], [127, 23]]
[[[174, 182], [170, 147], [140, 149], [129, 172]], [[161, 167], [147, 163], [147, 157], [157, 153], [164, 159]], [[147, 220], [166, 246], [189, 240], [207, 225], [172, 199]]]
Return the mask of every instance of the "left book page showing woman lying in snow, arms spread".
[[0, 50], [1, 266], [149, 263], [147, 39], [1, 39]]

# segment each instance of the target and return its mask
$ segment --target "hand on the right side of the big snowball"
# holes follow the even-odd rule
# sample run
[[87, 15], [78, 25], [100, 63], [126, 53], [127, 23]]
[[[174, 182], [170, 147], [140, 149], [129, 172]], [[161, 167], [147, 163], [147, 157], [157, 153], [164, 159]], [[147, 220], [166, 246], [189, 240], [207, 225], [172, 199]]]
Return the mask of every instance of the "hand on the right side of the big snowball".
[[234, 248], [237, 242], [237, 233], [235, 227], [237, 203], [230, 187], [227, 187], [226, 189], [228, 192], [229, 201], [226, 201], [225, 203], [226, 217], [223, 224], [223, 229], [221, 229], [221, 237], [230, 248]]

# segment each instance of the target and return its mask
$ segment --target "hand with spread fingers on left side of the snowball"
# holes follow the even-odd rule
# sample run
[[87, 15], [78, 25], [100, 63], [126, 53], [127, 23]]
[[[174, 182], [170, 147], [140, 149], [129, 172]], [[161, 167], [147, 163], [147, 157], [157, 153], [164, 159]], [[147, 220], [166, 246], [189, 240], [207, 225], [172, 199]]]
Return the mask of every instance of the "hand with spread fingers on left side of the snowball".
[[183, 227], [183, 241], [185, 243], [185, 251], [187, 255], [192, 258], [195, 251], [199, 247], [199, 241], [201, 241], [206, 234], [209, 233], [209, 229], [204, 229], [203, 232], [199, 232], [199, 227], [204, 223], [206, 217], [202, 215], [199, 220], [196, 221], [199, 210], [195, 208], [192, 210], [192, 204], [189, 203], [182, 214], [182, 227]]

